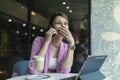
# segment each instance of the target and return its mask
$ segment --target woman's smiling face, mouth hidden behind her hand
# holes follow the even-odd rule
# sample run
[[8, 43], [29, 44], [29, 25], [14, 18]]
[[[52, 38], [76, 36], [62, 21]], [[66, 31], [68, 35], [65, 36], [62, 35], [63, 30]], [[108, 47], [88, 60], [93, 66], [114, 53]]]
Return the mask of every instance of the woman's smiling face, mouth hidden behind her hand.
[[68, 29], [69, 28], [68, 21], [62, 16], [57, 16], [53, 21], [53, 28], [57, 31], [57, 35], [60, 34], [59, 33], [60, 27]]

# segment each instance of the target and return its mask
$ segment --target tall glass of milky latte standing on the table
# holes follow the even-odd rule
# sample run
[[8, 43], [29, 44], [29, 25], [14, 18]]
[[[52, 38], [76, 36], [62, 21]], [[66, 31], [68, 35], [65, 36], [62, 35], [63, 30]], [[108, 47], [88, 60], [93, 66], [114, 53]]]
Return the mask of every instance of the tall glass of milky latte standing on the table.
[[43, 56], [34, 56], [34, 68], [39, 71], [42, 72], [42, 70], [44, 69], [44, 57]]

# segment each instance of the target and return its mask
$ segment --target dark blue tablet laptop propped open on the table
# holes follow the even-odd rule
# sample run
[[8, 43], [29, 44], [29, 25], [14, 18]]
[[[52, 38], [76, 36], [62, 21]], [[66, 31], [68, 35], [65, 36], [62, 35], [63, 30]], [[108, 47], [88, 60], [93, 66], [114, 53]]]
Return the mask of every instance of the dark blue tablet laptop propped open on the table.
[[103, 80], [105, 76], [100, 72], [107, 55], [88, 56], [77, 76], [61, 80]]

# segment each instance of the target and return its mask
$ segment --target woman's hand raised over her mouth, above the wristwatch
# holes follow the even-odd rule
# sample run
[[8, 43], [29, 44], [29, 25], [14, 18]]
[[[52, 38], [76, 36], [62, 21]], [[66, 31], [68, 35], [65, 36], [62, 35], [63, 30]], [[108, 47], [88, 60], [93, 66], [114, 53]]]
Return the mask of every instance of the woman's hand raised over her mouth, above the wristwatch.
[[75, 45], [74, 38], [73, 38], [73, 36], [72, 36], [72, 34], [71, 34], [71, 32], [69, 31], [68, 28], [66, 28], [66, 27], [60, 27], [59, 28], [59, 33], [62, 36], [66, 37], [69, 45]]

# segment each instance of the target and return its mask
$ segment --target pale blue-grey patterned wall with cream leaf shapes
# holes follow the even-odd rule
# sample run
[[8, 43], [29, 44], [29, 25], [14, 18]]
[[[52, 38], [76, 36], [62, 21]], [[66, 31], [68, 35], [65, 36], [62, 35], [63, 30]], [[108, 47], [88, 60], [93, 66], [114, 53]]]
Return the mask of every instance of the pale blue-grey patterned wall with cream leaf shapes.
[[91, 0], [91, 54], [108, 55], [101, 71], [120, 80], [120, 0]]

